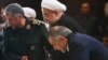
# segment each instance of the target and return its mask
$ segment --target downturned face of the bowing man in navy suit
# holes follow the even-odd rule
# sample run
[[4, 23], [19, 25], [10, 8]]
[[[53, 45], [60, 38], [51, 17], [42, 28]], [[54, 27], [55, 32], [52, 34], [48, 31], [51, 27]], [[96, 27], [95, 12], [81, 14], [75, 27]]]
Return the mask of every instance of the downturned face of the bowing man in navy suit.
[[65, 52], [67, 49], [67, 41], [66, 39], [49, 36], [49, 43], [53, 46], [54, 50], [59, 50]]

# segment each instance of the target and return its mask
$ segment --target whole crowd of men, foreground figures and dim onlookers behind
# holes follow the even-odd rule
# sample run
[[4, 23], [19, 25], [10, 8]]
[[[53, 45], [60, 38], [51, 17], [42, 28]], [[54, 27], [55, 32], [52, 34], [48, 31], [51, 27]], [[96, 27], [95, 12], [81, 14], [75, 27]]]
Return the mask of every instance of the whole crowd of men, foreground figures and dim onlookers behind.
[[31, 8], [3, 8], [0, 60], [108, 60], [108, 2], [102, 19], [91, 14], [87, 2], [78, 16], [70, 17], [67, 10], [57, 0], [42, 0], [42, 21]]

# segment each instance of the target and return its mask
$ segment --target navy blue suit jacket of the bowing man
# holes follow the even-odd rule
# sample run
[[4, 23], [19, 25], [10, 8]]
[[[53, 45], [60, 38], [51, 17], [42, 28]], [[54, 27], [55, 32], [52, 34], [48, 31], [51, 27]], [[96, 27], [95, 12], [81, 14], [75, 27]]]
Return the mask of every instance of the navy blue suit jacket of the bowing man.
[[108, 49], [96, 39], [75, 33], [68, 40], [69, 60], [108, 60]]

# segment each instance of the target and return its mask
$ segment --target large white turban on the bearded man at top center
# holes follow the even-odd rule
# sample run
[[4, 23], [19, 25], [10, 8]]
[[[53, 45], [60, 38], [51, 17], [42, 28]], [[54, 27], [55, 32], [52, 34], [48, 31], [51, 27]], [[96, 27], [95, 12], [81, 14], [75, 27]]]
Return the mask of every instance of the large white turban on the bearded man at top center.
[[63, 12], [67, 10], [66, 5], [57, 0], [42, 0], [41, 8], [45, 8], [52, 11], [63, 11]]

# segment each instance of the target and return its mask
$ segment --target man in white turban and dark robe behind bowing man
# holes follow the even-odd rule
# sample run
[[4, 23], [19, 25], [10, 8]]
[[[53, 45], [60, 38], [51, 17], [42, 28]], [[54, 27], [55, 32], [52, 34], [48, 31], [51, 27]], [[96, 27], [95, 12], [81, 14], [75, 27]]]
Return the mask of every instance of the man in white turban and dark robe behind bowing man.
[[42, 14], [44, 21], [49, 22], [50, 26], [65, 26], [69, 29], [83, 32], [79, 24], [65, 14], [67, 8], [65, 4], [57, 0], [42, 0], [41, 2]]

